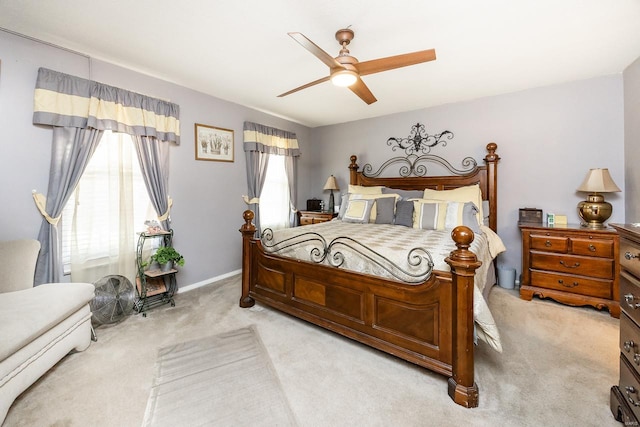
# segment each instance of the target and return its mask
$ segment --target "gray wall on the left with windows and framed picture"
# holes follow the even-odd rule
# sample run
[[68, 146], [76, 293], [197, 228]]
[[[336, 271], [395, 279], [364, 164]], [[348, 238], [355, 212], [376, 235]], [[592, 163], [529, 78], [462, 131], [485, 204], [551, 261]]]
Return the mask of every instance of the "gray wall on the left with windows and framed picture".
[[[0, 31], [0, 239], [36, 238], [42, 221], [31, 190], [46, 194], [51, 129], [32, 124], [37, 70], [47, 67], [91, 78], [180, 105], [181, 144], [171, 147], [169, 194], [174, 244], [184, 254], [180, 286], [200, 283], [240, 269], [246, 169], [242, 151], [245, 120], [295, 132], [301, 150], [310, 129], [172, 83]], [[194, 123], [233, 129], [233, 163], [195, 160]], [[305, 156], [305, 159], [310, 159]], [[301, 170], [307, 169], [305, 159]], [[307, 193], [305, 187], [301, 194]], [[303, 197], [303, 196], [301, 196]], [[144, 227], [140, 224], [140, 228]]]

